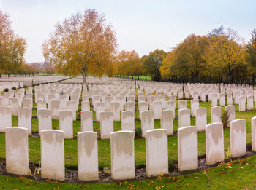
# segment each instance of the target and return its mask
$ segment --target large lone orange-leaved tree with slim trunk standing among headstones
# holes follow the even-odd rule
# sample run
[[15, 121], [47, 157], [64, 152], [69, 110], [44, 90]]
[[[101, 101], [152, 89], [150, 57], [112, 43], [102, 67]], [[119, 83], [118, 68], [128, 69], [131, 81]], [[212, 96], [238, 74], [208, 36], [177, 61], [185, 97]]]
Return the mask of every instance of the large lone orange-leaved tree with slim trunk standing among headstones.
[[69, 68], [69, 74], [102, 76], [116, 53], [116, 36], [105, 17], [94, 9], [77, 13], [56, 25], [50, 39], [43, 42], [42, 54], [58, 71]]

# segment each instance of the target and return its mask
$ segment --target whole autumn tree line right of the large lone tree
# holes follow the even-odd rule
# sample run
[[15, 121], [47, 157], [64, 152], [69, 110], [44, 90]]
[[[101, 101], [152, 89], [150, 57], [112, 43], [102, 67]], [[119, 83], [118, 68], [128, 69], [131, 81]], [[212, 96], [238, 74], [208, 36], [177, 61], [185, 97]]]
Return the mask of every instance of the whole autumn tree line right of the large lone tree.
[[170, 52], [157, 49], [139, 58], [135, 51], [121, 51], [113, 65], [117, 76], [144, 75], [154, 81], [255, 84], [256, 30], [247, 44], [223, 26], [205, 36], [192, 33]]

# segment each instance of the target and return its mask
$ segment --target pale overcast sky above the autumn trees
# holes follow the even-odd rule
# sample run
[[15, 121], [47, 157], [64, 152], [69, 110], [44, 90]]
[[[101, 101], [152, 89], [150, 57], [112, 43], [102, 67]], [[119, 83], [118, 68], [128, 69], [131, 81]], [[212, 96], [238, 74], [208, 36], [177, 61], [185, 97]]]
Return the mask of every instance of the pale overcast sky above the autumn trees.
[[44, 60], [42, 41], [57, 22], [87, 8], [113, 25], [119, 50], [135, 50], [140, 56], [157, 48], [170, 51], [189, 34], [205, 35], [220, 25], [238, 31], [245, 41], [256, 28], [253, 0], [0, 0], [0, 8], [27, 41], [27, 63]]

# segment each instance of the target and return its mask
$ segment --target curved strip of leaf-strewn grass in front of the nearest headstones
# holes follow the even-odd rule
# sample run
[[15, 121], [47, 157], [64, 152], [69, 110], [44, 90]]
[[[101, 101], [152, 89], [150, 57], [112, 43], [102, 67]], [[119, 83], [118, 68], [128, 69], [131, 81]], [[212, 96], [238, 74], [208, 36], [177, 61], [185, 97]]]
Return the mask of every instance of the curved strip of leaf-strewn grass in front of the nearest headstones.
[[145, 181], [63, 183], [0, 175], [0, 186], [3, 189], [255, 189], [255, 173], [255, 156], [251, 156], [200, 172]]

